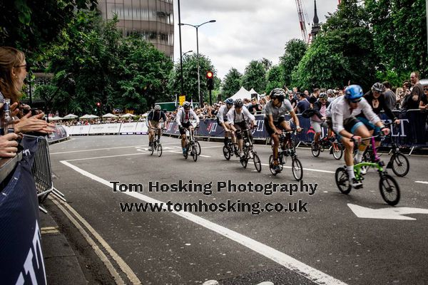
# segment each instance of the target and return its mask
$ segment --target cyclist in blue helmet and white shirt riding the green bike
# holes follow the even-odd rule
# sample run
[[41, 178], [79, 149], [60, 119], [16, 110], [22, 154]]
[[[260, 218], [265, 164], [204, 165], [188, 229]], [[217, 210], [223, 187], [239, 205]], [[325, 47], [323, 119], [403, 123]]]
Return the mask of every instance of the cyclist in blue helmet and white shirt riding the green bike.
[[[350, 185], [355, 188], [362, 187], [362, 183], [355, 179], [354, 160], [352, 159], [352, 151], [354, 142], [361, 142], [362, 138], [369, 138], [370, 132], [365, 125], [355, 118], [355, 115], [361, 112], [372, 122], [377, 125], [385, 134], [389, 133], [389, 129], [385, 128], [382, 120], [373, 112], [369, 103], [365, 98], [362, 98], [362, 88], [358, 85], [351, 85], [345, 89], [345, 95], [335, 100], [332, 104], [332, 126], [333, 130], [338, 134], [338, 138], [345, 146], [345, 164], [350, 180]], [[360, 144], [364, 150], [365, 145]]]

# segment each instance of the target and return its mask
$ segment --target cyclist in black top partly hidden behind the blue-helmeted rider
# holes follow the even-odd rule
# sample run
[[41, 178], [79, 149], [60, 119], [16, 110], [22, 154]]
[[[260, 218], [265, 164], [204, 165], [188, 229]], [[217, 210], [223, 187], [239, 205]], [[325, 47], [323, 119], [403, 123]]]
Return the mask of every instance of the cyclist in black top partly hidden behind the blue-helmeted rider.
[[[384, 110], [387, 114], [388, 118], [392, 120], [395, 124], [399, 124], [398, 118], [392, 113], [392, 110], [388, 107], [387, 102], [384, 98], [385, 87], [382, 83], [374, 83], [372, 89], [365, 93], [364, 98], [367, 100], [367, 103], [372, 107], [373, 112], [376, 115], [379, 115], [380, 111]], [[369, 120], [365, 117], [364, 113], [360, 113], [357, 115], [357, 119], [360, 122], [364, 123], [367, 129], [370, 130], [370, 133], [374, 133], [374, 135], [378, 135], [380, 133], [379, 127], [370, 123]], [[380, 140], [376, 141], [376, 146], [380, 145]], [[363, 152], [358, 150], [357, 155], [355, 155], [355, 162], [360, 163], [362, 159]]]

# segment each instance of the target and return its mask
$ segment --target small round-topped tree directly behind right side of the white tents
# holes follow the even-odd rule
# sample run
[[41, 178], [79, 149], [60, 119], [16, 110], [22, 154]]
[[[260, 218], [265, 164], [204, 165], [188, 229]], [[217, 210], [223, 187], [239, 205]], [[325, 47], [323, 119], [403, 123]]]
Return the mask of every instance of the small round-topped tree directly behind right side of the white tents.
[[241, 85], [247, 90], [250, 90], [251, 88], [254, 88], [257, 92], [265, 90], [266, 69], [263, 63], [254, 60], [250, 61], [248, 66], [245, 68], [241, 83]]

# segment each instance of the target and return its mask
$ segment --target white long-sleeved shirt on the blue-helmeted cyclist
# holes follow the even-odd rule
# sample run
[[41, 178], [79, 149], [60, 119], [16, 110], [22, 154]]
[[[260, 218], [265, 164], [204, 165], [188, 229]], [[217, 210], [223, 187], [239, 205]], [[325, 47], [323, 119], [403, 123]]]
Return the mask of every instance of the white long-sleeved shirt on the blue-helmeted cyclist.
[[355, 109], [350, 108], [350, 104], [345, 99], [345, 96], [340, 96], [340, 98], [333, 101], [332, 104], [335, 104], [331, 108], [331, 115], [333, 130], [335, 130], [336, 133], [340, 133], [340, 131], [345, 130], [345, 128], [343, 128], [344, 120], [355, 117], [361, 112], [364, 113], [366, 118], [373, 124], [376, 124], [380, 120], [379, 117], [373, 112], [372, 106], [370, 106], [365, 98], [362, 98], [362, 100], [358, 103], [357, 108]]

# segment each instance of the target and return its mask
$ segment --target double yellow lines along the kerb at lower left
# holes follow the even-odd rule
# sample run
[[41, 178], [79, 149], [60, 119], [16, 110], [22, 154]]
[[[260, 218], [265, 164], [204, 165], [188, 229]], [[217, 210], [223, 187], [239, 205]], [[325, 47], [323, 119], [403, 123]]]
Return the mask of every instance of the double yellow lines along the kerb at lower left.
[[[123, 273], [126, 274], [126, 276], [131, 281], [132, 284], [141, 284], [140, 279], [138, 279], [138, 277], [136, 276], [136, 274], [132, 271], [131, 267], [129, 267], [128, 264], [126, 264], [126, 262], [123, 261], [123, 259], [121, 257], [119, 257], [119, 255], [110, 247], [110, 245], [103, 239], [103, 237], [101, 237], [101, 235], [98, 234], [98, 232], [96, 232], [95, 229], [93, 229], [93, 227], [91, 226], [91, 224], [89, 224], [88, 222], [86, 222], [86, 219], [83, 219], [83, 217], [80, 214], [78, 214], [78, 212], [76, 212], [76, 210], [73, 209], [73, 207], [71, 207], [66, 202], [63, 202], [63, 201], [60, 201], [60, 200], [56, 200], [56, 199], [52, 199], [52, 198], [51, 198], [51, 200], [56, 204], [56, 206], [58, 208], [61, 209], [61, 211], [64, 214], [66, 214], [66, 216], [68, 217], [68, 219], [70, 219], [71, 222], [73, 222], [73, 224], [78, 228], [79, 232], [81, 232], [81, 234], [83, 235], [83, 237], [85, 237], [85, 239], [89, 242], [89, 244], [91, 245], [91, 247], [93, 247], [93, 249], [98, 249], [101, 252], [101, 249], [93, 241], [93, 239], [91, 237], [89, 237], [89, 235], [85, 231], [85, 229], [83, 229], [83, 227], [81, 227], [81, 225], [78, 224], [78, 222], [76, 221], [76, 219], [74, 219], [71, 216], [71, 214], [69, 212], [67, 212], [66, 209], [64, 209], [62, 206], [66, 207], [68, 209], [68, 211], [70, 211], [71, 213], [73, 213], [74, 216], [83, 224], [83, 226], [85, 226], [86, 229], [88, 229], [88, 231], [91, 232], [91, 234], [93, 234], [93, 237], [95, 237], [96, 240], [98, 240], [98, 242], [101, 244], [101, 246], [104, 249], [106, 249], [106, 251], [108, 252], [108, 254], [110, 254], [110, 256], [114, 259], [114, 261], [116, 261], [116, 263], [118, 264], [118, 266], [121, 268], [121, 270], [123, 271]], [[84, 232], [84, 234], [83, 234], [83, 232]], [[118, 275], [118, 271], [116, 271], [116, 269], [114, 269], [113, 264], [111, 264], [111, 262], [106, 257], [106, 254], [103, 254], [103, 252], [101, 252], [101, 254], [102, 254], [103, 258], [106, 259], [108, 266], [112, 267], [112, 269], [114, 271], [113, 273], [115, 275], [117, 274], [118, 279], [116, 279], [115, 275], [113, 275], [113, 277], [116, 279], [116, 281], [119, 281], [118, 284], [119, 283], [120, 284], [125, 284], [123, 282], [123, 279], [121, 278], [121, 276]], [[100, 256], [98, 255], [98, 257], [100, 257]], [[101, 260], [103, 260], [103, 258], [101, 258]], [[106, 262], [104, 262], [104, 263], [106, 264]], [[110, 271], [110, 269], [109, 269], [109, 271]], [[112, 271], [111, 271], [111, 273], [112, 273]]]

